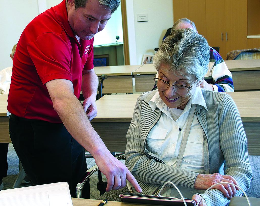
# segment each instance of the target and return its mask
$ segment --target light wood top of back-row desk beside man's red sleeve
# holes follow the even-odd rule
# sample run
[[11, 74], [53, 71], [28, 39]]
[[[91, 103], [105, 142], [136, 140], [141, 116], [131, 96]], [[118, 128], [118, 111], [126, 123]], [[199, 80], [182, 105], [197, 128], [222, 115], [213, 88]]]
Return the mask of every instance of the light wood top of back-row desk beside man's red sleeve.
[[124, 76], [132, 75], [132, 72], [142, 65], [121, 65], [108, 67], [94, 67], [97, 76], [105, 74], [107, 76]]

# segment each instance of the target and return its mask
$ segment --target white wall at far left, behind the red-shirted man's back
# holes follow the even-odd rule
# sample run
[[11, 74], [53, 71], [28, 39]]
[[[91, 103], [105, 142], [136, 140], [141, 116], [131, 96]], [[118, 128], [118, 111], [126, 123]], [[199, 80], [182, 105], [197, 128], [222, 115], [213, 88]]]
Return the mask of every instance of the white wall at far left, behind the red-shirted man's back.
[[11, 0], [0, 3], [0, 70], [13, 65], [10, 54], [24, 28], [39, 14], [37, 0]]

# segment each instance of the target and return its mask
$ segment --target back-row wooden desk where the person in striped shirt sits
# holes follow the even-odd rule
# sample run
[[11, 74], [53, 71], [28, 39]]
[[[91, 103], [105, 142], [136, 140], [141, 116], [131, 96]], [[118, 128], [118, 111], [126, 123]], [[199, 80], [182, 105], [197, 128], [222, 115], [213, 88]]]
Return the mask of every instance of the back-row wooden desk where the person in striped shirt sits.
[[[260, 90], [260, 59], [225, 61], [231, 71], [235, 91]], [[146, 64], [133, 72], [135, 91], [151, 91], [156, 69], [152, 64]]]

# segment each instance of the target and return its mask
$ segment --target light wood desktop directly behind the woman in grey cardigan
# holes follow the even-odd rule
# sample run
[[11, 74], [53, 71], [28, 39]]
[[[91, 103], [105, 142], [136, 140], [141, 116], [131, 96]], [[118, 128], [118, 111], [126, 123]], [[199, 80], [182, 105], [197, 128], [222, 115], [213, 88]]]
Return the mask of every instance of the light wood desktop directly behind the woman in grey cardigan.
[[[260, 122], [260, 91], [228, 92], [235, 101], [243, 122]], [[104, 95], [97, 104], [92, 122], [131, 122], [136, 99], [133, 95]]]

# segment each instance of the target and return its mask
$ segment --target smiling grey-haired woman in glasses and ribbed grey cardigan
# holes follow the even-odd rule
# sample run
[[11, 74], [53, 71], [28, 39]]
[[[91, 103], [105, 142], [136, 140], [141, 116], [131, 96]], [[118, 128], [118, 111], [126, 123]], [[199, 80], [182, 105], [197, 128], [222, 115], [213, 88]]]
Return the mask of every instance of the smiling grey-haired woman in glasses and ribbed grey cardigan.
[[[199, 87], [209, 65], [206, 39], [191, 29], [174, 30], [153, 64], [158, 90], [138, 98], [127, 133], [126, 165], [142, 194], [157, 194], [167, 181], [196, 202], [218, 182], [248, 189], [252, 172], [237, 107], [229, 95]], [[229, 184], [214, 188], [200, 205], [226, 205], [242, 193]], [[161, 195], [178, 192], [168, 187]]]

